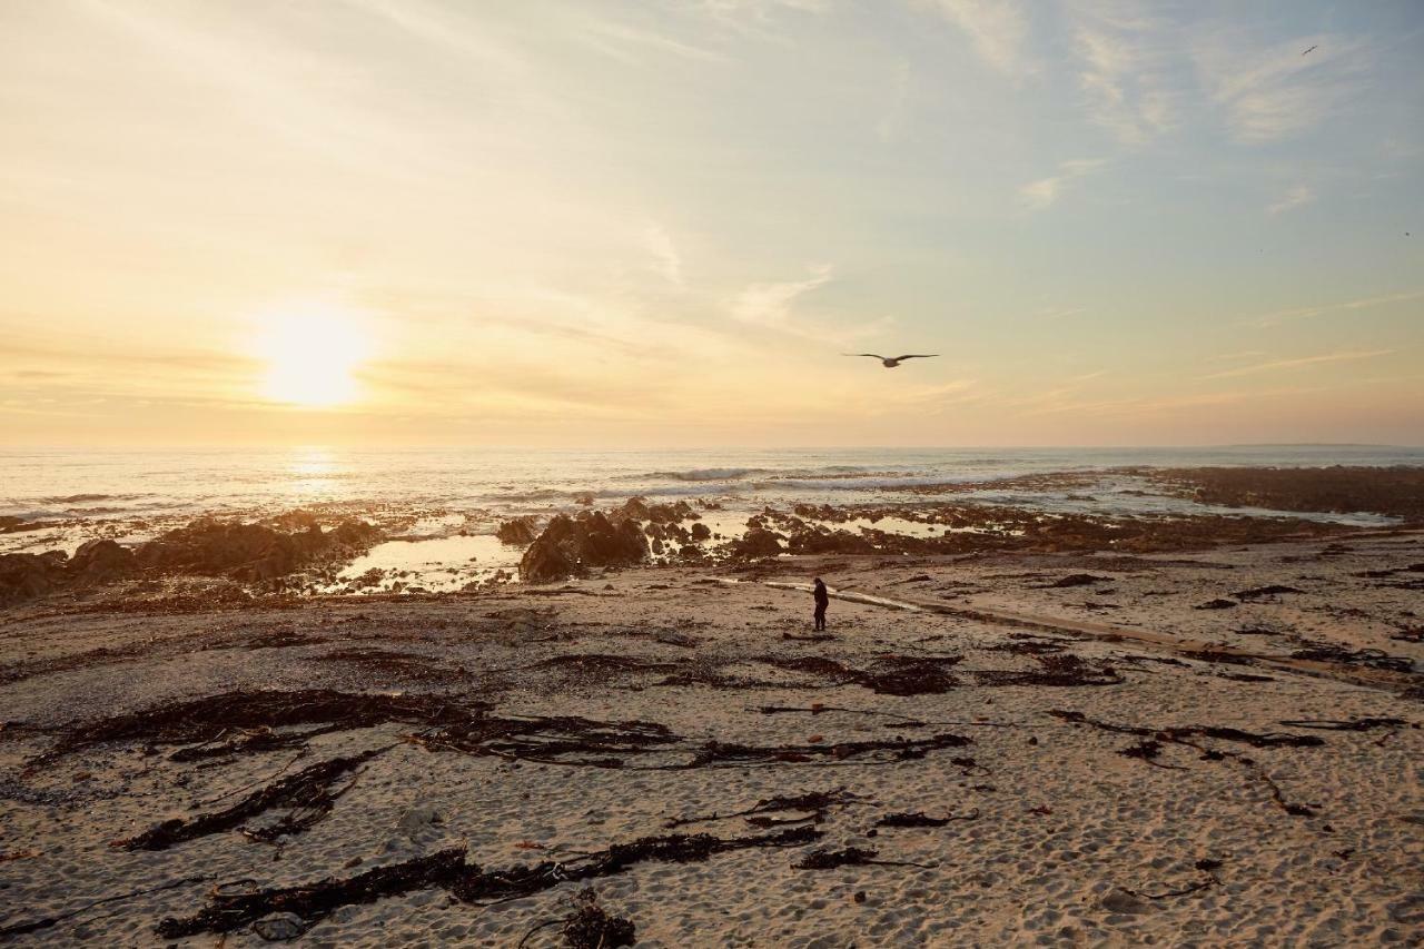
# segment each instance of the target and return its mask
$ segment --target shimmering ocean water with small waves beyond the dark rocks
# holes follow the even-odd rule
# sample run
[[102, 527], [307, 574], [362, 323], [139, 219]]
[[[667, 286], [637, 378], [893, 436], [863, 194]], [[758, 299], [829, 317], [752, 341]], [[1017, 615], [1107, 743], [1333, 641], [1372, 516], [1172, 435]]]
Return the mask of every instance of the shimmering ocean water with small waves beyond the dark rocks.
[[[493, 539], [501, 520], [571, 510], [588, 497], [595, 506], [612, 506], [634, 496], [705, 499], [722, 506], [718, 526], [736, 530], [750, 513], [768, 504], [894, 503], [923, 500], [913, 489], [934, 484], [1051, 472], [1216, 465], [1424, 466], [1424, 449], [4, 449], [0, 450], [0, 517], [43, 522], [47, 527], [0, 533], [0, 553], [73, 551], [95, 536], [138, 543], [204, 514], [253, 519], [303, 507], [332, 517], [359, 516], [399, 526], [403, 540], [377, 547], [353, 569], [412, 567], [416, 573], [431, 573], [478, 563], [481, 573], [487, 573], [507, 569], [518, 559], [517, 550], [503, 549]], [[994, 487], [953, 499], [1109, 514], [1218, 510], [1151, 490], [1142, 493], [1143, 486], [1138, 479], [1105, 474], [1087, 494]], [[1373, 514], [1316, 516], [1388, 523]]]

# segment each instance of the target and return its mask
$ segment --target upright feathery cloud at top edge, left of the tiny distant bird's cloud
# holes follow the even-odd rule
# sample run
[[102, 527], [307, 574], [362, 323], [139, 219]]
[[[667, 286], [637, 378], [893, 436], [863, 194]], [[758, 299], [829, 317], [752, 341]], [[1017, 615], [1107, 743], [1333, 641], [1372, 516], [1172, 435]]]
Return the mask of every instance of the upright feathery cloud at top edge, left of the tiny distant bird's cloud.
[[1126, 0], [1075, 3], [1071, 21], [1089, 118], [1128, 145], [1171, 130], [1178, 113], [1172, 26]]

